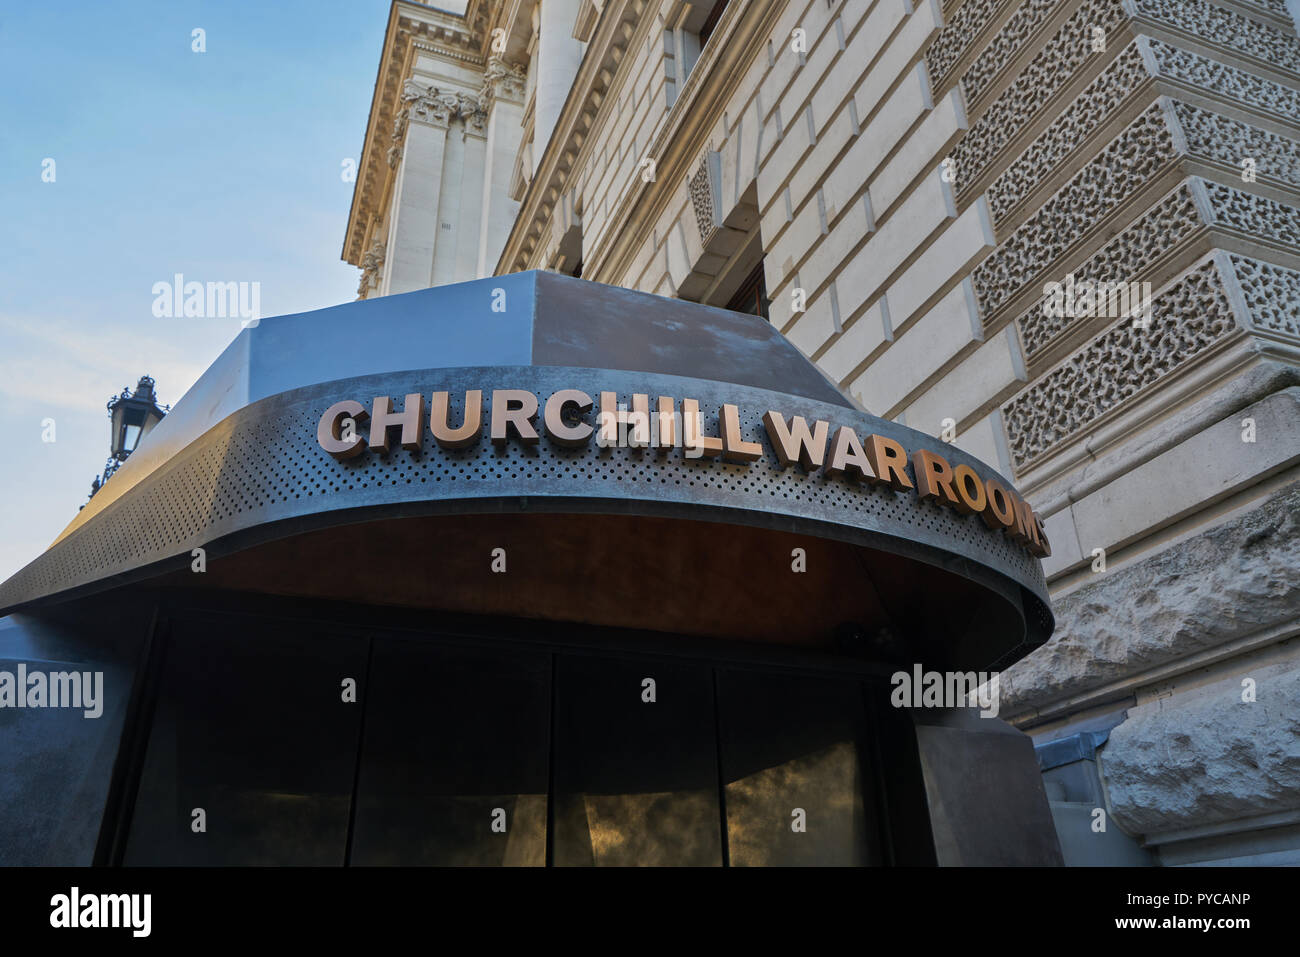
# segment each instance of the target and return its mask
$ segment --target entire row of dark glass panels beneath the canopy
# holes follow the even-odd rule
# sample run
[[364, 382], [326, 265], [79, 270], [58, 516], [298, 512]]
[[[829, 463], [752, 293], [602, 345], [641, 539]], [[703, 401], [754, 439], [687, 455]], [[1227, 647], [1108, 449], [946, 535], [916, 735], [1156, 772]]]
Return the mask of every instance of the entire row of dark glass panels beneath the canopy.
[[181, 620], [124, 862], [933, 863], [910, 719], [864, 702], [835, 675]]

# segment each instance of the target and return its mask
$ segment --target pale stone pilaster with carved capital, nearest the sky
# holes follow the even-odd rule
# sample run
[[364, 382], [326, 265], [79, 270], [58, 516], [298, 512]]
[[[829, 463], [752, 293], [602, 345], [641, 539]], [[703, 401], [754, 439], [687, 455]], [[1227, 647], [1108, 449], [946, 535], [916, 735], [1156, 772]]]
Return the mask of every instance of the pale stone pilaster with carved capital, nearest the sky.
[[455, 109], [455, 95], [407, 83], [389, 151], [389, 163], [400, 161], [402, 166], [393, 191], [385, 295], [433, 283], [442, 160]]

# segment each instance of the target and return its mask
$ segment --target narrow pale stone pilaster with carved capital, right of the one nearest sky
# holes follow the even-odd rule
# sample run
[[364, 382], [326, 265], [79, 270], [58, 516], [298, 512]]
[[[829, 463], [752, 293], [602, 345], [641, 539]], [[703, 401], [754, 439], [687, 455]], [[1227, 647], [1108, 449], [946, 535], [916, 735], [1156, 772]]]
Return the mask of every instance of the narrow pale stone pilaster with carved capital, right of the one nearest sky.
[[524, 72], [498, 56], [488, 60], [478, 100], [488, 111], [481, 220], [478, 224], [477, 277], [491, 276], [519, 212], [510, 198], [510, 177], [524, 135]]

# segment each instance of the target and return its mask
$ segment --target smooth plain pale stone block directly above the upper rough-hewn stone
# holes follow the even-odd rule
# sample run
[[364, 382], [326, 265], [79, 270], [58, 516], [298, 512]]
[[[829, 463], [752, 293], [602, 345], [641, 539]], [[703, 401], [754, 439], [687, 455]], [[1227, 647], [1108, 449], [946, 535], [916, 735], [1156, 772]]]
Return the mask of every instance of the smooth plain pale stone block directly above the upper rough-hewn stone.
[[[1254, 420], [1254, 442], [1242, 441], [1244, 419]], [[1296, 464], [1297, 421], [1292, 387], [1199, 432], [1076, 502], [1079, 540], [1109, 551]]]

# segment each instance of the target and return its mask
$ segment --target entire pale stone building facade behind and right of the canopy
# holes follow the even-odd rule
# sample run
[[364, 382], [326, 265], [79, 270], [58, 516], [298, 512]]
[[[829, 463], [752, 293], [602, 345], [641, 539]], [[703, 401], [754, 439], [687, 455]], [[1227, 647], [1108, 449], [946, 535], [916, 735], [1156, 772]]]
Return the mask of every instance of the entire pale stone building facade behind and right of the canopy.
[[1300, 863], [1284, 0], [396, 0], [343, 257], [766, 315], [1046, 516], [1067, 861]]

